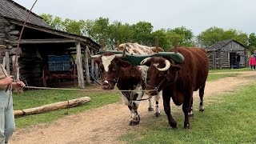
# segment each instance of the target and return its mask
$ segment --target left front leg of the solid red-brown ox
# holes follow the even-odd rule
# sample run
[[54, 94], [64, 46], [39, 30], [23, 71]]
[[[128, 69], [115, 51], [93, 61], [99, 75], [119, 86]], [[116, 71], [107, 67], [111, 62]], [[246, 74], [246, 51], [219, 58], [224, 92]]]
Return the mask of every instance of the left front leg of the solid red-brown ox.
[[166, 112], [169, 124], [172, 128], [177, 128], [177, 122], [175, 122], [174, 118], [170, 114], [170, 97], [173, 95], [168, 90], [162, 90], [162, 101], [163, 107]]

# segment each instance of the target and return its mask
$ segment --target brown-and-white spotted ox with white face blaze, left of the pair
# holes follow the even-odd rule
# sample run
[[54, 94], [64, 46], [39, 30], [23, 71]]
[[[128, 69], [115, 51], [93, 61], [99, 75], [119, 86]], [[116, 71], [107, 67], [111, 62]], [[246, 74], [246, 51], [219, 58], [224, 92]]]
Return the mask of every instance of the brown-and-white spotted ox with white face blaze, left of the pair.
[[[124, 43], [120, 45], [120, 50], [126, 49], [130, 54], [154, 54], [153, 47], [141, 46], [138, 43]], [[88, 52], [88, 50], [87, 50]], [[102, 71], [102, 89], [113, 90], [117, 84], [118, 90], [122, 91], [122, 102], [129, 107], [131, 119], [129, 125], [137, 125], [140, 121], [138, 114], [138, 105], [146, 89], [146, 71], [147, 66], [132, 66], [129, 62], [122, 60], [122, 54], [105, 52], [100, 55], [94, 55], [94, 61], [98, 63]], [[154, 97], [155, 116], [158, 117], [160, 110], [158, 108], [159, 96]], [[154, 110], [149, 98], [149, 111]]]

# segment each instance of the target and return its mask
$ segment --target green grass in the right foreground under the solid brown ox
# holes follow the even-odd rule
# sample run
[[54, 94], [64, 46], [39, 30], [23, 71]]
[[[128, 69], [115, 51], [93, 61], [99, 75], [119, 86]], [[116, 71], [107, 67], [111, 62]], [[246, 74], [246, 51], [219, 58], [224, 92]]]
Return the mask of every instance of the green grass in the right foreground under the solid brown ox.
[[[227, 94], [215, 95], [205, 103], [205, 112], [194, 110], [190, 130], [183, 129], [181, 106], [172, 106], [178, 129], [172, 129], [162, 112], [160, 118], [142, 118], [136, 130], [118, 138], [128, 143], [255, 143], [256, 142], [256, 83]], [[194, 102], [198, 107], [198, 102]], [[143, 121], [144, 120], [144, 121]]]

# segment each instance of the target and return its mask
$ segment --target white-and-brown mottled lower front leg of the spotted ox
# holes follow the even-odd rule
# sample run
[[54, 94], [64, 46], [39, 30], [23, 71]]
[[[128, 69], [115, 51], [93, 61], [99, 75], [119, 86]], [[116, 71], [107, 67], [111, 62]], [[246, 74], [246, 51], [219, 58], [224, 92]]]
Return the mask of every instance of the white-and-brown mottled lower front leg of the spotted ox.
[[129, 122], [129, 126], [134, 126], [134, 125], [138, 125], [140, 118], [138, 115], [138, 103], [136, 102], [131, 102], [131, 105], [128, 106], [130, 109], [130, 113], [131, 113], [131, 119]]

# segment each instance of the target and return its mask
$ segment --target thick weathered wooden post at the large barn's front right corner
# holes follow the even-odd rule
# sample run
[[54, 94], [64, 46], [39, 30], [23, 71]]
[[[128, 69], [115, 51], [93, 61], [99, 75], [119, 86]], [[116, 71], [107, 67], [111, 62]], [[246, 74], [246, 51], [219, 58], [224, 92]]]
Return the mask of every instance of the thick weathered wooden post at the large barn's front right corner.
[[76, 58], [76, 65], [78, 70], [78, 86], [82, 89], [85, 88], [85, 81], [83, 77], [83, 70], [82, 70], [82, 57], [81, 57], [81, 45], [80, 42], [75, 42], [75, 46], [77, 48], [77, 58]]

